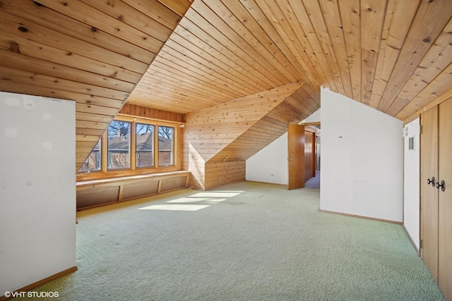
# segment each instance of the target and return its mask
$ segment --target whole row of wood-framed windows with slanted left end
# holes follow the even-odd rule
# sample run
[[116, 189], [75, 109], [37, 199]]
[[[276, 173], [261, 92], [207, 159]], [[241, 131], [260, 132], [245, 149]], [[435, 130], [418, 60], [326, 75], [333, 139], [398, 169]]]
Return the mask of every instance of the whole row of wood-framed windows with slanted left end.
[[78, 173], [174, 166], [175, 129], [167, 124], [114, 120]]

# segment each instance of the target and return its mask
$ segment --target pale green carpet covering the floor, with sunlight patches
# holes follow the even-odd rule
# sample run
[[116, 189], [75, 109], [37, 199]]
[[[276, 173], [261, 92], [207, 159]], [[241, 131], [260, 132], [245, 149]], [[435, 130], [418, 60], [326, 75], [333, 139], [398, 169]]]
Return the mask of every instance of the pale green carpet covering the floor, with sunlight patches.
[[319, 190], [244, 182], [77, 216], [78, 271], [35, 289], [58, 300], [444, 300], [403, 226], [321, 213]]

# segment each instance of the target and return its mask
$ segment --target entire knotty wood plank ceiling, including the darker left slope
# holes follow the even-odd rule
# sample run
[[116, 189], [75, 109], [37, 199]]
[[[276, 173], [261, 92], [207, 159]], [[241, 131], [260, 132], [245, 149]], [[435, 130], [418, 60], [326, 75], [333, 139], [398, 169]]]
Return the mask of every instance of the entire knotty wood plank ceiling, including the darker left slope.
[[452, 90], [451, 17], [450, 0], [0, 0], [0, 90], [75, 100], [78, 145], [126, 99], [189, 113], [293, 82], [405, 120]]

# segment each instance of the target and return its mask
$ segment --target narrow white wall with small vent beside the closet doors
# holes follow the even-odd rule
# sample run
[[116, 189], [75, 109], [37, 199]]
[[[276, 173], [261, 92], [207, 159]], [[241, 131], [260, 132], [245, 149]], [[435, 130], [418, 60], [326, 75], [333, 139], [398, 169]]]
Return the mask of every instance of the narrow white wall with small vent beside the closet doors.
[[[403, 173], [403, 224], [412, 242], [419, 250], [420, 240], [420, 121], [417, 118], [405, 125], [407, 135], [404, 141], [404, 173]], [[415, 149], [408, 149], [410, 137], [415, 139]]]

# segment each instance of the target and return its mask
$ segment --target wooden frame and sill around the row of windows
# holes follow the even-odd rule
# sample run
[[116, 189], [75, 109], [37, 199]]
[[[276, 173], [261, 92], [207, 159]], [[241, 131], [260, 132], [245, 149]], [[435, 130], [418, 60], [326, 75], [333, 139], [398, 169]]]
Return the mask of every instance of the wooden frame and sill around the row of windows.
[[[129, 168], [121, 168], [121, 169], [108, 169], [107, 168], [107, 160], [108, 160], [108, 147], [107, 147], [107, 130], [101, 136], [101, 168], [100, 171], [91, 171], [90, 173], [77, 173], [76, 178], [77, 181], [82, 180], [96, 180], [102, 178], [118, 178], [124, 176], [136, 176], [141, 174], [150, 174], [150, 173], [162, 173], [169, 171], [180, 171], [182, 167], [182, 128], [181, 125], [184, 123], [172, 122], [172, 121], [161, 121], [157, 119], [151, 118], [137, 118], [131, 116], [124, 116], [122, 114], [118, 114], [113, 121], [123, 121], [131, 123], [130, 126], [130, 167]], [[154, 126], [154, 137], [153, 137], [153, 148], [154, 148], [154, 166], [136, 166], [136, 123], [141, 124], [149, 124]], [[172, 142], [172, 152], [173, 152], [173, 164], [167, 166], [159, 166], [159, 158], [158, 158], [158, 138], [159, 135], [157, 133], [159, 126], [166, 126], [170, 128], [174, 128], [173, 132], [173, 142]], [[156, 150], [157, 149], [157, 150]]]

